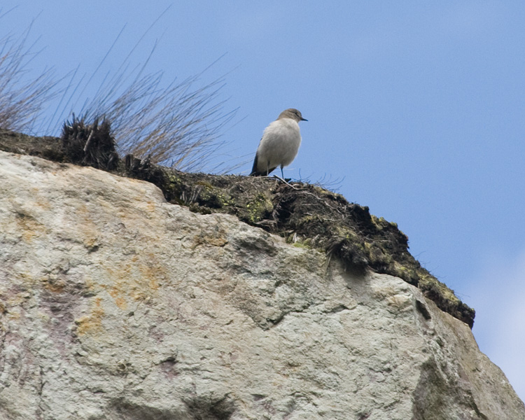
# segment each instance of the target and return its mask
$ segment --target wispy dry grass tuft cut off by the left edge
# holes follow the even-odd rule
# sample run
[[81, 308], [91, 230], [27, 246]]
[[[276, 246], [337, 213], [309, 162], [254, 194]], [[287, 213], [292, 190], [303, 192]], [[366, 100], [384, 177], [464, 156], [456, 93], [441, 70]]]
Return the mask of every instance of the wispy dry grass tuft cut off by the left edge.
[[27, 47], [29, 29], [20, 38], [0, 38], [0, 127], [6, 130], [32, 132], [45, 105], [58, 94], [52, 69], [27, 81], [28, 66], [38, 54], [34, 45]]

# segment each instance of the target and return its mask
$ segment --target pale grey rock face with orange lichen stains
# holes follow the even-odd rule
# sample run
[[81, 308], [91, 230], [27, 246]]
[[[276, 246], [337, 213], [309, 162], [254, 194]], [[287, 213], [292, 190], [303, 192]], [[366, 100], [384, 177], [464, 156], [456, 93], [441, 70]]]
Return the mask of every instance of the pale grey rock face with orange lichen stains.
[[0, 152], [0, 418], [525, 419], [394, 276], [158, 188]]

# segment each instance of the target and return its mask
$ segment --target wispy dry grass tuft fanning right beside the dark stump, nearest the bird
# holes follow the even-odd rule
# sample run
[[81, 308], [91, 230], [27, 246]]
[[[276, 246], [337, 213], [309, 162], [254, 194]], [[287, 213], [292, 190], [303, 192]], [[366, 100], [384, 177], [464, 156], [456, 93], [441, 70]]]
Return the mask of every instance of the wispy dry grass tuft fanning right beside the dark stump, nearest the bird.
[[199, 76], [161, 87], [162, 73], [135, 78], [122, 93], [125, 75], [111, 80], [82, 113], [87, 123], [105, 119], [111, 123], [120, 153], [132, 153], [151, 162], [182, 171], [209, 165], [225, 125], [235, 111], [223, 112], [218, 100], [223, 79], [194, 87]]

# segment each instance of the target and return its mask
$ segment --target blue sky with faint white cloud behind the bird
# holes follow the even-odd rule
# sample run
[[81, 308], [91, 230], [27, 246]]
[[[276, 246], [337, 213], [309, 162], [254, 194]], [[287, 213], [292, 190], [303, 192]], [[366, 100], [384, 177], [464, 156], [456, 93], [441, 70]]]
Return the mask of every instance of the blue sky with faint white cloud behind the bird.
[[480, 349], [525, 399], [523, 1], [122, 4], [3, 0], [4, 13], [17, 7], [0, 37], [35, 19], [34, 73], [89, 75], [124, 28], [89, 96], [171, 6], [130, 62], [158, 41], [147, 71], [169, 83], [222, 57], [199, 83], [225, 76], [225, 110], [238, 111], [223, 153], [244, 162], [237, 173], [264, 127], [300, 109], [309, 121], [285, 175], [339, 180], [349, 201], [398, 223], [412, 254], [476, 309]]

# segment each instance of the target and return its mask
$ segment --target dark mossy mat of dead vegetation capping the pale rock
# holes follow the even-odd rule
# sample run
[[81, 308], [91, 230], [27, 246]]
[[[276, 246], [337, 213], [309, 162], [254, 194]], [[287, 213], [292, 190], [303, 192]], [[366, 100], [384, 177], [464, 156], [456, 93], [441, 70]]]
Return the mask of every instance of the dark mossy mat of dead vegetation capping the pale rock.
[[[271, 178], [192, 174], [133, 155], [120, 159], [116, 151], [107, 148], [111, 146], [111, 135], [108, 134], [106, 140], [98, 137], [104, 132], [110, 133], [109, 129], [99, 130], [97, 126], [97, 141], [91, 137], [92, 143], [88, 144], [94, 129], [85, 124], [71, 127], [62, 139], [35, 138], [0, 130], [0, 150], [38, 155], [57, 162], [76, 162], [149, 181], [162, 190], [166, 200], [192, 211], [235, 215], [287, 241], [321, 249], [354, 272], [364, 273], [370, 269], [398, 276], [419, 287], [440, 309], [472, 327], [474, 309], [421, 267], [409, 253], [407, 237], [395, 223], [371, 215], [367, 207], [349, 203], [342, 195], [306, 183], [288, 185]], [[102, 149], [97, 151], [98, 147]], [[101, 162], [110, 162], [110, 165], [104, 166]]]

